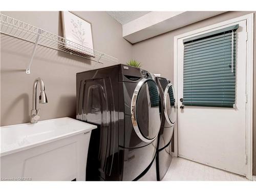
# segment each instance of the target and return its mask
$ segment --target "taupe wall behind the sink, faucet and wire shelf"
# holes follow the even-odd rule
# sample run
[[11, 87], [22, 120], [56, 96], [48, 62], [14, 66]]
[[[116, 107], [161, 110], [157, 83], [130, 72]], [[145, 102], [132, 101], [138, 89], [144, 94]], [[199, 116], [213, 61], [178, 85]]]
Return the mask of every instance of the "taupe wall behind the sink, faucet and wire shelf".
[[[62, 36], [60, 13], [2, 12]], [[125, 63], [132, 45], [122, 38], [122, 26], [106, 12], [76, 12], [92, 23], [94, 49]], [[45, 82], [47, 104], [40, 104], [42, 119], [75, 116], [76, 73], [93, 69], [94, 62], [44, 47], [36, 50], [31, 74], [25, 74], [33, 45], [1, 34], [1, 125], [29, 122], [32, 86], [36, 77]], [[103, 66], [117, 63], [104, 62]]]

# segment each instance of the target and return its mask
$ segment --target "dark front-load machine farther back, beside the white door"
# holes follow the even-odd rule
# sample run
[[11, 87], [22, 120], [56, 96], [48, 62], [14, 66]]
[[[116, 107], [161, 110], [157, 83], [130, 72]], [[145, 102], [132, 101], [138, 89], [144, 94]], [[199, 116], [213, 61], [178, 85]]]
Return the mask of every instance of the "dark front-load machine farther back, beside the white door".
[[161, 98], [161, 128], [157, 145], [157, 180], [162, 180], [172, 161], [172, 137], [177, 108], [175, 90], [169, 79], [156, 77]]

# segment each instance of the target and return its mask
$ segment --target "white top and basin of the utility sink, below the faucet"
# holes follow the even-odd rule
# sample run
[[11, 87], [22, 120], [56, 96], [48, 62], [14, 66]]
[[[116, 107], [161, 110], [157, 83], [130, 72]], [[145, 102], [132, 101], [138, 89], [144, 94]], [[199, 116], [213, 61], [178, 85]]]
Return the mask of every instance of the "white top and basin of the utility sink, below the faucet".
[[52, 142], [97, 126], [69, 117], [1, 127], [1, 156]]

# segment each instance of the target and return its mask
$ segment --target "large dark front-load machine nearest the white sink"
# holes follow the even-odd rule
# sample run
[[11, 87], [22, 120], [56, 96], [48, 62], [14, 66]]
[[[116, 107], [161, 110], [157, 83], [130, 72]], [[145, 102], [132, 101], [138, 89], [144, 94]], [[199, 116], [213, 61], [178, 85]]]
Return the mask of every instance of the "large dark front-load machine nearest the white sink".
[[157, 180], [160, 92], [145, 70], [115, 65], [77, 73], [76, 117], [92, 131], [88, 181]]

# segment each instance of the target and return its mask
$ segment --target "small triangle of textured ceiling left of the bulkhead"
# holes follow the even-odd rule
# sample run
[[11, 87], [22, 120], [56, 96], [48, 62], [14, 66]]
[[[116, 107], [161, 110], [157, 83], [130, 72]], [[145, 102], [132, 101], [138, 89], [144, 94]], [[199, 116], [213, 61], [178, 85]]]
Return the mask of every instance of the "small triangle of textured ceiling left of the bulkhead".
[[107, 11], [110, 16], [122, 25], [127, 24], [149, 12], [150, 11]]

